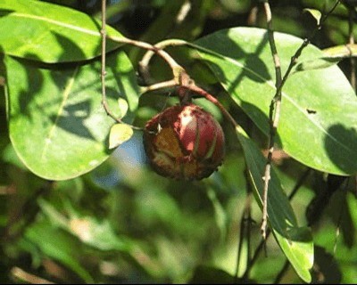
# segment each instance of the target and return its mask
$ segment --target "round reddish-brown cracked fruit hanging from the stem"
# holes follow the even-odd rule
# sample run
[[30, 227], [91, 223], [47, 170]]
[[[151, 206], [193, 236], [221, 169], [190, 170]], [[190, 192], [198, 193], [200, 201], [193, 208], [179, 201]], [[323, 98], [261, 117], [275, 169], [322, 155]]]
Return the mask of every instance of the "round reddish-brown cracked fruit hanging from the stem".
[[149, 120], [144, 148], [159, 175], [200, 180], [222, 163], [225, 139], [218, 121], [190, 103], [170, 107]]

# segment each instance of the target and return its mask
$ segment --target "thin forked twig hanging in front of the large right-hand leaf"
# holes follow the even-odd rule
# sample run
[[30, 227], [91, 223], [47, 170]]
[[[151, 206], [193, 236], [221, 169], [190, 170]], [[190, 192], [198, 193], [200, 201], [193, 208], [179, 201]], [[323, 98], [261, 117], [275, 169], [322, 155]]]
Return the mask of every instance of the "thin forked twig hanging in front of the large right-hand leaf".
[[326, 13], [322, 19], [320, 20], [320, 24], [312, 31], [311, 37], [305, 38], [303, 40], [303, 44], [297, 49], [295, 54], [292, 56], [291, 61], [289, 66], [286, 69], [286, 73], [282, 79], [281, 78], [281, 73], [280, 73], [280, 65], [278, 62], [278, 53], [273, 37], [273, 30], [272, 30], [272, 22], [271, 22], [271, 11], [270, 11], [270, 4], [268, 0], [265, 0], [264, 2], [264, 10], [266, 13], [266, 18], [267, 18], [267, 23], [268, 23], [268, 35], [269, 35], [269, 41], [270, 41], [270, 49], [274, 61], [274, 66], [276, 69], [276, 86], [277, 86], [277, 91], [276, 94], [274, 95], [274, 98], [270, 102], [270, 135], [269, 135], [269, 153], [268, 153], [268, 158], [267, 158], [267, 163], [266, 167], [264, 170], [264, 188], [263, 188], [263, 210], [262, 210], [262, 237], [265, 238], [266, 236], [266, 226], [267, 226], [267, 221], [268, 221], [268, 189], [269, 189], [269, 182], [270, 182], [270, 169], [271, 169], [271, 160], [272, 160], [272, 153], [274, 151], [274, 142], [275, 142], [275, 135], [277, 133], [278, 129], [278, 120], [279, 120], [279, 115], [280, 115], [280, 108], [281, 108], [281, 91], [283, 86], [286, 83], [287, 77], [290, 75], [292, 69], [294, 68], [297, 59], [300, 57], [301, 53], [303, 53], [303, 49], [310, 44], [311, 38], [315, 36], [315, 34], [320, 30], [322, 27], [322, 24], [325, 22], [325, 20], [328, 19], [328, 16], [330, 15], [331, 12], [333, 12], [336, 9], [336, 6], [340, 3], [340, 0], [336, 1], [336, 4], [331, 8], [328, 13]]

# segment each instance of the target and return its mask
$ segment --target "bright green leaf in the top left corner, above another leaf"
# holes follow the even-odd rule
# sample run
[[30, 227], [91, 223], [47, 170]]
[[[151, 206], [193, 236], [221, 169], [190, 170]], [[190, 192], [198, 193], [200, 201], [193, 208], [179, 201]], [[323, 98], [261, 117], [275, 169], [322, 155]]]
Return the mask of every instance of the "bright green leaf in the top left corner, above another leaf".
[[[0, 50], [36, 61], [83, 61], [101, 54], [101, 22], [83, 12], [33, 0], [0, 2]], [[122, 38], [107, 26], [107, 35]], [[107, 51], [120, 44], [107, 40]]]

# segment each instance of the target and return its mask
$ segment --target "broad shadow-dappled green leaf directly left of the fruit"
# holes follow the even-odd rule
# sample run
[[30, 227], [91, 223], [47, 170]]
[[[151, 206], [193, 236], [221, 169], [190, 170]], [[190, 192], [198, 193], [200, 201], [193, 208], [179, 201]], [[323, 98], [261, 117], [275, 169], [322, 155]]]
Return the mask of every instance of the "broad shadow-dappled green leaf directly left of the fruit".
[[[138, 87], [125, 53], [108, 58], [107, 96], [112, 111], [130, 123]], [[9, 132], [13, 148], [29, 169], [47, 179], [87, 173], [108, 158], [114, 121], [102, 106], [100, 61], [75, 68], [5, 58]], [[120, 114], [118, 98], [128, 102]]]

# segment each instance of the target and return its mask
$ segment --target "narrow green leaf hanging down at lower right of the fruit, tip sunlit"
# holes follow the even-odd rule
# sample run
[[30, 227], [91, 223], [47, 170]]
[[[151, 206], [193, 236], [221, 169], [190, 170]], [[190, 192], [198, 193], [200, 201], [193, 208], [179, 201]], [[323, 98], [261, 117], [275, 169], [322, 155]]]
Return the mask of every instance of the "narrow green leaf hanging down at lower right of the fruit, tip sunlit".
[[[262, 208], [262, 190], [265, 159], [262, 151], [247, 137], [244, 130], [237, 127], [237, 138], [245, 153], [245, 163], [252, 179], [253, 190]], [[286, 258], [293, 265], [296, 273], [303, 281], [310, 282], [309, 270], [313, 264], [313, 243], [311, 231], [306, 227], [299, 227], [293, 208], [286, 194], [281, 188], [278, 176], [271, 169], [270, 185], [268, 191], [268, 217], [270, 228], [278, 245], [283, 250]]]

